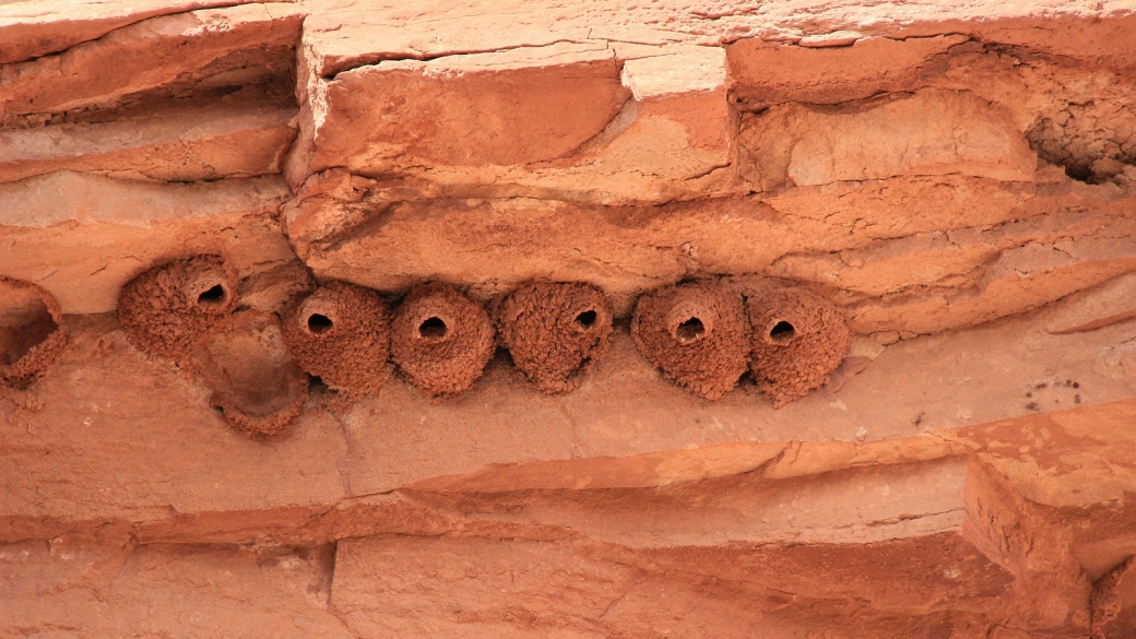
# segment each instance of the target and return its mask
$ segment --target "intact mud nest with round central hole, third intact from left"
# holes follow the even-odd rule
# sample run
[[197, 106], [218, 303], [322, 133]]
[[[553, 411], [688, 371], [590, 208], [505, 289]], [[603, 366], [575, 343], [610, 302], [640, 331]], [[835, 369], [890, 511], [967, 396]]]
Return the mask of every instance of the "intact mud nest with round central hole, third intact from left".
[[416, 287], [391, 322], [391, 356], [431, 397], [468, 389], [493, 357], [493, 324], [477, 302], [444, 284]]

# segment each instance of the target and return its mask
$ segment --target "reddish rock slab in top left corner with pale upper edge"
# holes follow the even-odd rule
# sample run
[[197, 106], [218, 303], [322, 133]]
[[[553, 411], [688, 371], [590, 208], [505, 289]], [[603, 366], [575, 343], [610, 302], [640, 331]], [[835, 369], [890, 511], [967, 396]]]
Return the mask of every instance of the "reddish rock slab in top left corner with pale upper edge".
[[142, 20], [66, 52], [0, 67], [0, 114], [107, 108], [156, 89], [241, 86], [287, 75], [302, 11], [287, 3]]

